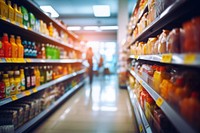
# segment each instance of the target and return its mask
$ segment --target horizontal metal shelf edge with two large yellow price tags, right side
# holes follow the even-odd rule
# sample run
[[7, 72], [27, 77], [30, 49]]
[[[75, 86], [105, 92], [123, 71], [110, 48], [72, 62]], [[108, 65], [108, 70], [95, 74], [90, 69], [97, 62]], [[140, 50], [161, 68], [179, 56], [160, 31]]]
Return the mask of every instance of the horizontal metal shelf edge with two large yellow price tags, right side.
[[[165, 60], [168, 56], [171, 61]], [[161, 54], [161, 55], [131, 55], [130, 59], [148, 60], [154, 62], [178, 64], [178, 65], [189, 65], [199, 66], [200, 65], [200, 54]]]

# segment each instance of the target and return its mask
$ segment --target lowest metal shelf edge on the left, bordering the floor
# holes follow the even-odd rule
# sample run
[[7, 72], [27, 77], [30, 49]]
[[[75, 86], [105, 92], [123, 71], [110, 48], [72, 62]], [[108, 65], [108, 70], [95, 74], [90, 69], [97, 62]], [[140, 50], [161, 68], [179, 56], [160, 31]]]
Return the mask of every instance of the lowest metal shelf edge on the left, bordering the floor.
[[67, 97], [72, 95], [74, 92], [76, 92], [85, 81], [80, 82], [78, 85], [70, 89], [68, 92], [66, 92], [62, 97], [60, 97], [57, 101], [55, 101], [52, 105], [50, 105], [47, 109], [42, 111], [39, 115], [25, 123], [23, 126], [18, 128], [15, 133], [22, 133], [34, 126], [38, 121], [40, 121], [42, 118], [44, 118], [46, 115], [48, 115], [53, 109], [55, 109], [60, 103], [62, 103]]

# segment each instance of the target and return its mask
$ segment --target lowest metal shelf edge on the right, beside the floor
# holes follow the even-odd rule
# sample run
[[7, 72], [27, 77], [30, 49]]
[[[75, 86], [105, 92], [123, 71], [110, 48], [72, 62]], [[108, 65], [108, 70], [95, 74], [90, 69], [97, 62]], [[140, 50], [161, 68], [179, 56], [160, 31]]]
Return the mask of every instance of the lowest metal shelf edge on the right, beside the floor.
[[151, 127], [149, 126], [149, 123], [148, 123], [146, 116], [144, 115], [144, 112], [136, 98], [136, 95], [131, 91], [130, 86], [128, 86], [127, 88], [128, 88], [132, 106], [134, 107], [134, 112], [135, 112], [135, 116], [136, 116], [136, 119], [138, 122], [140, 133], [141, 132], [152, 133]]

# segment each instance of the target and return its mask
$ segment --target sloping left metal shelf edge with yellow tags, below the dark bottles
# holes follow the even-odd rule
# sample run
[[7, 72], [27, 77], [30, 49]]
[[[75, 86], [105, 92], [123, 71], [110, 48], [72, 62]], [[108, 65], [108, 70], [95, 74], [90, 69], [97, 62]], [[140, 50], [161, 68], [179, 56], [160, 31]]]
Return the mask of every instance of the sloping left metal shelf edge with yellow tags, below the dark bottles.
[[80, 75], [80, 74], [82, 74], [84, 72], [85, 72], [85, 69], [77, 71], [77, 72], [74, 72], [74, 73], [69, 74], [69, 75], [65, 75], [63, 77], [60, 77], [58, 79], [52, 80], [52, 81], [50, 81], [48, 83], [45, 83], [45, 84], [43, 84], [43, 85], [41, 85], [39, 87], [30, 89], [30, 90], [26, 90], [26, 91], [21, 92], [20, 94], [17, 94], [17, 95], [13, 95], [13, 96], [11, 96], [9, 98], [2, 99], [2, 100], [0, 100], [0, 106], [3, 106], [3, 105], [8, 104], [8, 103], [11, 103], [11, 102], [16, 101], [18, 99], [21, 99], [23, 97], [27, 97], [27, 96], [29, 96], [31, 94], [34, 94], [34, 93], [36, 93], [38, 91], [41, 91], [41, 90], [44, 90], [47, 87], [50, 87], [50, 86], [52, 86], [54, 84], [57, 84], [57, 83], [62, 82], [62, 81], [65, 81], [65, 80], [67, 80], [69, 78], [75, 77], [77, 75]]

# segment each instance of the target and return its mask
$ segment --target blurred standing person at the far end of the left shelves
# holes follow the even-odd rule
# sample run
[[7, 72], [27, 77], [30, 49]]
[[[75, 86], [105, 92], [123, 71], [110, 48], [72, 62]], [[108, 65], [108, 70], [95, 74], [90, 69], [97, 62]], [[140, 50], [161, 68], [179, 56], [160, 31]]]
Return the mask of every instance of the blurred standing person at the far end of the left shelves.
[[89, 74], [89, 78], [90, 78], [90, 85], [92, 85], [92, 80], [93, 80], [93, 51], [92, 48], [89, 47], [87, 52], [86, 52], [86, 59], [89, 63], [89, 68], [88, 68], [88, 74]]

